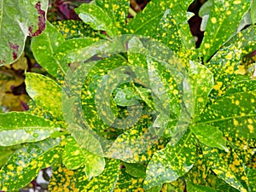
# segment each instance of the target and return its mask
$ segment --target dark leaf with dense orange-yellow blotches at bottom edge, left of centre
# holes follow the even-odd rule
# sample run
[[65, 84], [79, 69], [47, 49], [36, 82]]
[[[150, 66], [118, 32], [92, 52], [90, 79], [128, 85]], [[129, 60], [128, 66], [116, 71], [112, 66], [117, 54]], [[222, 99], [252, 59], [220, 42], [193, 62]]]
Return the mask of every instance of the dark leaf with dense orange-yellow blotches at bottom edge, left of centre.
[[49, 191], [78, 192], [76, 188], [76, 175], [72, 170], [58, 164], [53, 166], [49, 180]]

